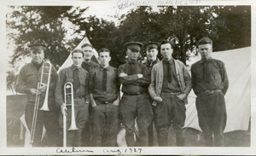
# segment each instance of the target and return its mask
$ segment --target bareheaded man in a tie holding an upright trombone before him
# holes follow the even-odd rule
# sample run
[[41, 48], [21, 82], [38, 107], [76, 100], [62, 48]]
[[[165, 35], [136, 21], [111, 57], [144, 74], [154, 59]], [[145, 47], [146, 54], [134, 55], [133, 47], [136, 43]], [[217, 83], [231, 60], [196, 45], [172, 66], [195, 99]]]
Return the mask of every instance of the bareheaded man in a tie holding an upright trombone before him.
[[72, 60], [73, 65], [59, 73], [55, 88], [55, 103], [62, 113], [59, 122], [63, 127], [64, 147], [81, 146], [82, 130], [88, 119], [89, 73], [81, 67], [83, 51], [75, 49]]

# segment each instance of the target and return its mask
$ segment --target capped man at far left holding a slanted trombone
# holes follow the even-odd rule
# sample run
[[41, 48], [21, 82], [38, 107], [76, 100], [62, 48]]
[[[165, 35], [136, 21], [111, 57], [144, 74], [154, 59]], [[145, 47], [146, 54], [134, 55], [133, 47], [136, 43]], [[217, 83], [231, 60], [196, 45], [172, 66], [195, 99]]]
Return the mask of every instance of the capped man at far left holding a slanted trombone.
[[46, 146], [56, 146], [58, 116], [54, 91], [57, 72], [49, 61], [44, 61], [43, 43], [32, 43], [29, 47], [32, 62], [20, 69], [15, 90], [26, 94], [25, 119], [30, 130], [32, 147], [45, 146], [42, 144], [43, 126], [49, 141]]

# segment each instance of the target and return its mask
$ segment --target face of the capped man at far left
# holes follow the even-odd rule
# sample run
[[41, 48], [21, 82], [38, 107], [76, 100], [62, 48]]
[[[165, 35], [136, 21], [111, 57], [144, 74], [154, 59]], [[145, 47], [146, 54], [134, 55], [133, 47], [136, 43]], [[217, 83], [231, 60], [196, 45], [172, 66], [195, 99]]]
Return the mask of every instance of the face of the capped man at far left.
[[31, 48], [32, 61], [36, 64], [41, 64], [44, 60], [44, 47], [35, 45]]

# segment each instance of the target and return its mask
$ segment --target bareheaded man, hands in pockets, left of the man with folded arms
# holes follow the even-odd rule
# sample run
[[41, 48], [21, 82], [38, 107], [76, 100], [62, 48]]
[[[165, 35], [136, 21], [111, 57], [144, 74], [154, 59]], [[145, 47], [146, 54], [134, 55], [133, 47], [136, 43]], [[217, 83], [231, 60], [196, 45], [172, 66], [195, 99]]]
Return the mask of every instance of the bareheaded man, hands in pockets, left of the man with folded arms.
[[116, 146], [119, 128], [119, 80], [109, 66], [109, 49], [99, 50], [100, 67], [90, 71], [90, 103], [93, 118], [93, 146]]

